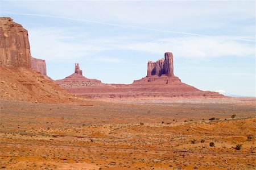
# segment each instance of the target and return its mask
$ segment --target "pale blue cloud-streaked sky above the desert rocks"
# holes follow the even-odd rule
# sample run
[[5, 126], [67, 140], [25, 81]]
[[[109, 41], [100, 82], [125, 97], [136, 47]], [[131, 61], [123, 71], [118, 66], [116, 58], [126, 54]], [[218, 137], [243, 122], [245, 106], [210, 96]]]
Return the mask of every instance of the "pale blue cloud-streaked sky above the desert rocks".
[[201, 90], [256, 97], [255, 1], [0, 1], [28, 30], [54, 80], [130, 84], [174, 55], [174, 74]]

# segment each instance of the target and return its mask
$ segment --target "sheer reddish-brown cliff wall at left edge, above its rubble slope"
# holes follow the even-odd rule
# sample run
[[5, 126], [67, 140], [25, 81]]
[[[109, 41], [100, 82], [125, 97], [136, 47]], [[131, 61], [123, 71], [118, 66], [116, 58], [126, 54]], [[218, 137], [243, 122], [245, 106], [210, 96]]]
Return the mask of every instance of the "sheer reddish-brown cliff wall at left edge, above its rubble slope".
[[7, 17], [0, 17], [0, 65], [31, 68], [28, 32]]

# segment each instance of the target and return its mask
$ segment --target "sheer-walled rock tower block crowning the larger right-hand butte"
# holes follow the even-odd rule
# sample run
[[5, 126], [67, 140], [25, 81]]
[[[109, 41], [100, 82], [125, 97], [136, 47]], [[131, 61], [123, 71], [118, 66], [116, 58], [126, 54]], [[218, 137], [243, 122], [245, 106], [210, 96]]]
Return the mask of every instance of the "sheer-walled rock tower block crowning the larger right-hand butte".
[[174, 57], [171, 52], [164, 54], [164, 59], [156, 62], [148, 61], [147, 63], [147, 77], [151, 76], [174, 76]]

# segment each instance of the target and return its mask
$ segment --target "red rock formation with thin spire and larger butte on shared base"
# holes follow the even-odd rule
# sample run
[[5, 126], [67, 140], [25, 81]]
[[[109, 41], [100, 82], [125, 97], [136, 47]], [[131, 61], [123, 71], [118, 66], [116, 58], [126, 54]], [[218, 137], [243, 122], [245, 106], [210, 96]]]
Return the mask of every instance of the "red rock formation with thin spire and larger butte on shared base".
[[[173, 97], [222, 97], [216, 92], [202, 91], [184, 84], [174, 75], [174, 62], [171, 52], [164, 59], [147, 64], [147, 76], [135, 80], [133, 84], [102, 84], [79, 74], [79, 65], [75, 73], [56, 83], [73, 94], [89, 98], [117, 99], [170, 99]], [[92, 83], [93, 82], [93, 83]]]

